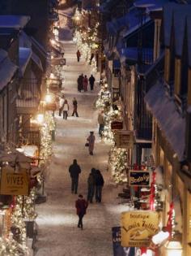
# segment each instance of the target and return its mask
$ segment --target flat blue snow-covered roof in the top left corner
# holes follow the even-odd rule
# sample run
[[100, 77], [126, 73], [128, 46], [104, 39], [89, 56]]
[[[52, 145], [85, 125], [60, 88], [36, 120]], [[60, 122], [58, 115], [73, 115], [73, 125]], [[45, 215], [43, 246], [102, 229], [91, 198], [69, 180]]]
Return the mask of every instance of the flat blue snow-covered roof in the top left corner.
[[0, 28], [24, 28], [29, 20], [25, 15], [0, 15]]

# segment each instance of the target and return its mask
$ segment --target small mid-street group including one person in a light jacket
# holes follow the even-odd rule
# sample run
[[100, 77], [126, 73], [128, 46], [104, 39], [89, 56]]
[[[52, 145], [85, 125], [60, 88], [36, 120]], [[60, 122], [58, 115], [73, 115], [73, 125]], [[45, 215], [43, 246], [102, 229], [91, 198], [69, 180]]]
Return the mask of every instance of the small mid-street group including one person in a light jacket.
[[[77, 102], [76, 98], [73, 98], [72, 104], [73, 104], [73, 112], [72, 112], [71, 116], [76, 115], [77, 117], [79, 117], [78, 102]], [[69, 111], [68, 101], [64, 96], [62, 96], [59, 101], [59, 116], [62, 116], [62, 114], [63, 114], [63, 119], [67, 119], [68, 111]]]

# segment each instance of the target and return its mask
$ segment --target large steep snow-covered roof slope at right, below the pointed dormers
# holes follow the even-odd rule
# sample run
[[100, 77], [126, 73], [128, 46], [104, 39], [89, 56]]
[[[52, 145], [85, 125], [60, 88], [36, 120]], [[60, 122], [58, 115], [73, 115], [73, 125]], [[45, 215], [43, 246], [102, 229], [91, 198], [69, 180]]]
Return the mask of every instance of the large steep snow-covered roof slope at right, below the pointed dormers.
[[145, 101], [179, 160], [183, 160], [185, 119], [180, 116], [172, 98], [168, 97], [163, 84], [158, 81], [151, 87], [146, 93]]

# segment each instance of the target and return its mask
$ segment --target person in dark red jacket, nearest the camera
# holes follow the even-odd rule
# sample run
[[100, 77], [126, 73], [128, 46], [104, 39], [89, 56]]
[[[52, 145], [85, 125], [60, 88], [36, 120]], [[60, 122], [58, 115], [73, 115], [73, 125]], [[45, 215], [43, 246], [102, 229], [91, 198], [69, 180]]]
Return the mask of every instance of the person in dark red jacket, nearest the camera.
[[79, 216], [78, 228], [83, 229], [83, 216], [87, 213], [88, 202], [83, 199], [83, 195], [79, 194], [79, 199], [75, 202], [77, 215]]

